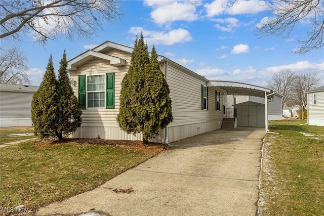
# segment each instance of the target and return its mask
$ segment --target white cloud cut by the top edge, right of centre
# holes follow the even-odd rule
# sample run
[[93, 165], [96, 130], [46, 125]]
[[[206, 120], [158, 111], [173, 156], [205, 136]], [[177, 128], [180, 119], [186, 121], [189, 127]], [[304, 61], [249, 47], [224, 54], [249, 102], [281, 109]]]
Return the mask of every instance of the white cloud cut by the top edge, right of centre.
[[249, 1], [238, 1], [232, 7], [230, 0], [215, 0], [212, 3], [207, 3], [204, 5], [207, 17], [218, 16], [221, 14], [257, 14], [262, 11], [265, 11], [265, 2], [258, 0], [249, 0]]

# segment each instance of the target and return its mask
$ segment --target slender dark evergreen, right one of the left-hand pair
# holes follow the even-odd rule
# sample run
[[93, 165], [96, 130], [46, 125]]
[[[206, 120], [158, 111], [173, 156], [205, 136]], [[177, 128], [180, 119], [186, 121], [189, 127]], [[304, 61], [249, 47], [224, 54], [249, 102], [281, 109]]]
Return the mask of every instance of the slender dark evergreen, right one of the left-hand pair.
[[67, 73], [66, 53], [60, 61], [58, 73], [57, 93], [59, 96], [58, 114], [56, 119], [55, 135], [61, 140], [63, 133], [73, 133], [81, 125], [82, 111], [79, 102], [73, 93]]

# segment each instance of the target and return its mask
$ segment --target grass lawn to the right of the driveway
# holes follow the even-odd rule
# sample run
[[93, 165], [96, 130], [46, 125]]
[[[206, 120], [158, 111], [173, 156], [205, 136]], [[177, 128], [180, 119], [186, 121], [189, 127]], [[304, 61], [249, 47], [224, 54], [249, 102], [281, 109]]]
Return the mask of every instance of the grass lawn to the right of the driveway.
[[324, 127], [306, 122], [269, 122], [279, 134], [265, 138], [263, 215], [324, 215]]

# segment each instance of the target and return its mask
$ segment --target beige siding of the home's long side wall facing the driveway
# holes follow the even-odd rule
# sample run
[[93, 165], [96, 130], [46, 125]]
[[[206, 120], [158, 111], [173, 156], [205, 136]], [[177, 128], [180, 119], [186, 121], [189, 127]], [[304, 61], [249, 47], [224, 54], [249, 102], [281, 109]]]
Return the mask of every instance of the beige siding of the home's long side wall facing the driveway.
[[216, 88], [209, 88], [208, 110], [201, 110], [201, 84], [207, 85], [206, 80], [180, 70], [174, 64], [168, 64], [167, 82], [174, 118], [168, 125], [169, 142], [221, 128], [223, 94], [220, 97], [221, 110], [216, 111]]

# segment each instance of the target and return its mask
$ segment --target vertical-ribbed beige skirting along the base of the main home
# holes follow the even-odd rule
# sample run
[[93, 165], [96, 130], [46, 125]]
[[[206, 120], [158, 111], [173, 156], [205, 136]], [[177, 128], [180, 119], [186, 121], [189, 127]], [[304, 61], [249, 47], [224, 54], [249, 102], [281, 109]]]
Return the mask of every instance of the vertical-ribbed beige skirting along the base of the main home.
[[[220, 121], [193, 123], [185, 125], [168, 126], [168, 142], [185, 139], [194, 135], [203, 134], [210, 131], [215, 131], [221, 128]], [[160, 129], [158, 136], [151, 139], [150, 142], [165, 143], [165, 129]], [[76, 132], [71, 135], [71, 138], [87, 138], [95, 139], [100, 137], [105, 140], [143, 140], [141, 133], [127, 134], [118, 126], [80, 126]]]

